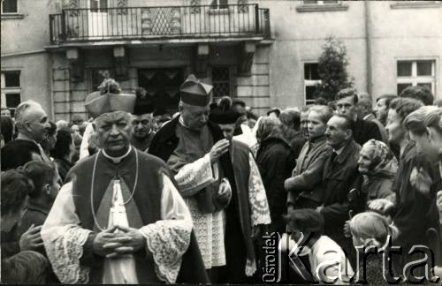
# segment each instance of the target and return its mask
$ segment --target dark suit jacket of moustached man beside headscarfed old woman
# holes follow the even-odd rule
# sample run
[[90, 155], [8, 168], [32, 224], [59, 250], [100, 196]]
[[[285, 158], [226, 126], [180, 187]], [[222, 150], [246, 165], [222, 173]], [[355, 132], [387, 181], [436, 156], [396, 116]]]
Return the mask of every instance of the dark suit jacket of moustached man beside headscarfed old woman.
[[325, 235], [333, 239], [333, 234], [340, 237], [348, 220], [348, 192], [353, 188], [360, 189], [361, 176], [357, 163], [360, 151], [361, 146], [351, 140], [333, 161], [330, 155], [324, 164], [324, 208], [321, 214], [324, 216]]

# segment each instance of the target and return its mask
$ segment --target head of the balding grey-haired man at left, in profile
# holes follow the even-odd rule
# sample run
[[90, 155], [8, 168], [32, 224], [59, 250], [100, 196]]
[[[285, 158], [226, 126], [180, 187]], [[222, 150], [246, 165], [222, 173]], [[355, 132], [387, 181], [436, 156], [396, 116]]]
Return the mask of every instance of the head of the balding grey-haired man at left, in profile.
[[19, 131], [17, 139], [34, 142], [40, 149], [43, 161], [50, 162], [41, 146], [50, 128], [48, 115], [42, 105], [32, 100], [21, 102], [15, 109], [15, 124]]

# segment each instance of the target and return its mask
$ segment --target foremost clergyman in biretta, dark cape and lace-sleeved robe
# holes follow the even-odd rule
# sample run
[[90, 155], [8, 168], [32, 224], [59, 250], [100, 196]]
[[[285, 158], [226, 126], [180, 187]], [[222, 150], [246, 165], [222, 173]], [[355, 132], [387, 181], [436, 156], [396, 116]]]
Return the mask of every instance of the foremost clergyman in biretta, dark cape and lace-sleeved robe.
[[[164, 162], [130, 146], [130, 138], [118, 157], [105, 147], [121, 144], [119, 128], [132, 127], [133, 103], [134, 95], [109, 90], [86, 99], [98, 130], [110, 128], [110, 140], [73, 167], [43, 224], [52, 269], [62, 283], [208, 282], [190, 212]], [[142, 236], [139, 250], [95, 251], [103, 232], [126, 240], [129, 229]]]

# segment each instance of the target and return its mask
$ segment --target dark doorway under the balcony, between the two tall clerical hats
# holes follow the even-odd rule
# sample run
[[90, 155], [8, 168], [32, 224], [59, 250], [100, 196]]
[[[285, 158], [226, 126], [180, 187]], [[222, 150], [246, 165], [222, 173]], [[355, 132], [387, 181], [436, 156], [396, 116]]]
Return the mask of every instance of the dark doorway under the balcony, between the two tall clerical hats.
[[146, 69], [138, 71], [138, 86], [144, 87], [155, 104], [156, 113], [173, 115], [178, 111], [182, 69]]

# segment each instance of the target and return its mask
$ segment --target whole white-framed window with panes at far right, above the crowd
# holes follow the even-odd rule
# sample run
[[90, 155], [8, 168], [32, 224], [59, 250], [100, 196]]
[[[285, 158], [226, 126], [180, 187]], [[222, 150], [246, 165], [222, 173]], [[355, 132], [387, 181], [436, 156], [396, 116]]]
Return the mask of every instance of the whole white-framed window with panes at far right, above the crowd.
[[410, 86], [428, 87], [436, 92], [436, 62], [433, 60], [404, 60], [397, 64], [397, 92]]

